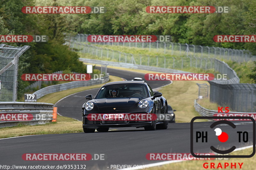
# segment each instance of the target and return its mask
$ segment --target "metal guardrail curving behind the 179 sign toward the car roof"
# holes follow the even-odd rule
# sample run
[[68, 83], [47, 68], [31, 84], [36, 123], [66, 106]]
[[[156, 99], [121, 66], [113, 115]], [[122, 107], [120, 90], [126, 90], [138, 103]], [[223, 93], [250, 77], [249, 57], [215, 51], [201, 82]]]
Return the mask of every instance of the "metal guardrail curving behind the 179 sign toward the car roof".
[[54, 93], [54, 92], [60, 92], [63, 90], [68, 90], [68, 89], [77, 88], [77, 87], [99, 85], [99, 84], [108, 82], [109, 76], [105, 76], [101, 79], [99, 78], [97, 80], [91, 79], [88, 81], [72, 81], [69, 83], [63, 83], [63, 84], [59, 84], [59, 85], [50, 85], [50, 86], [44, 87], [40, 90], [37, 90], [33, 94], [36, 94], [37, 99], [39, 99], [46, 94], [50, 94], [50, 93]]

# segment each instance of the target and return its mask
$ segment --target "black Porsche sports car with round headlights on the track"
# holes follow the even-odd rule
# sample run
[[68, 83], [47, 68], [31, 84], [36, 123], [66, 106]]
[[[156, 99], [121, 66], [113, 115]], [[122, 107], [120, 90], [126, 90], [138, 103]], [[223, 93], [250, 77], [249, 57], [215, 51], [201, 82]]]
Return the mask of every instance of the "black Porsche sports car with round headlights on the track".
[[[167, 100], [161, 92], [154, 92], [146, 82], [107, 83], [100, 87], [95, 99], [92, 99], [92, 95], [85, 98], [89, 100], [82, 107], [85, 133], [94, 132], [95, 129], [107, 132], [109, 128], [116, 127], [167, 129], [168, 120], [172, 120], [170, 115], [173, 114], [168, 113]], [[132, 115], [138, 119], [132, 119]], [[151, 119], [140, 119], [137, 116], [151, 116]]]

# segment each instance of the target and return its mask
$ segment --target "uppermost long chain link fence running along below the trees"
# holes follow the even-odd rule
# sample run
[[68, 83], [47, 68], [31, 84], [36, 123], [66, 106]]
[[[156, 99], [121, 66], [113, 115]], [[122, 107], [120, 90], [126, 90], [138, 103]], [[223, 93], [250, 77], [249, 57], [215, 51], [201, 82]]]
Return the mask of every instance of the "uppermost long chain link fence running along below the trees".
[[[77, 34], [71, 38], [71, 41], [86, 42], [87, 36], [90, 34]], [[247, 62], [249, 60], [256, 61], [256, 56], [252, 55], [248, 50], [208, 47], [193, 44], [182, 44], [175, 42], [92, 42], [90, 44], [98, 45], [117, 45], [126, 47], [137, 47], [148, 49], [163, 54], [175, 56], [189, 56], [200, 58], [218, 58], [232, 60], [236, 62]]]

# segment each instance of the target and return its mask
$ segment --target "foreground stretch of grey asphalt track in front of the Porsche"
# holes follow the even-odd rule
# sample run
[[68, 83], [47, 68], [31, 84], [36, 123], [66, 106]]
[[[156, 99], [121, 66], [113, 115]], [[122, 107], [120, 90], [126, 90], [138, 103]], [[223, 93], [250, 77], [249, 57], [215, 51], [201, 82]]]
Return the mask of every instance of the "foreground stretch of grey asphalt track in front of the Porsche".
[[[198, 122], [196, 129], [201, 130], [210, 124], [211, 122]], [[251, 125], [237, 126], [240, 130], [251, 129]], [[207, 147], [207, 144], [201, 145], [197, 152], [207, 153], [206, 151], [209, 151]], [[10, 166], [86, 165], [86, 169], [90, 170], [111, 169], [111, 165], [143, 165], [160, 162], [160, 160], [147, 160], [147, 153], [190, 153], [190, 123], [170, 123], [168, 129], [156, 131], [124, 128], [105, 133], [68, 133], [9, 138], [0, 140], [0, 149], [1, 164]], [[24, 161], [21, 158], [24, 153], [104, 154], [105, 160]]]

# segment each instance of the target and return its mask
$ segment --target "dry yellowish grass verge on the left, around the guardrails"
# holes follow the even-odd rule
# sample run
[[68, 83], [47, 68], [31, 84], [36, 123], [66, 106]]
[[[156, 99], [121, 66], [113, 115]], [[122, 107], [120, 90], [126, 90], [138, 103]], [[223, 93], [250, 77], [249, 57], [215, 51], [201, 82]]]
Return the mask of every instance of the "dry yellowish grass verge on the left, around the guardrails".
[[[116, 76], [109, 76], [109, 82], [122, 81], [121, 78]], [[44, 97], [38, 99], [38, 102], [56, 103], [63, 97], [81, 92], [92, 88], [100, 88], [104, 84], [93, 85], [88, 87], [78, 87], [74, 89], [68, 89], [61, 92], [55, 92], [47, 94]], [[26, 135], [41, 135], [41, 134], [60, 134], [60, 133], [77, 133], [83, 132], [81, 121], [76, 121], [69, 117], [57, 115], [57, 122], [51, 122], [44, 125], [24, 125], [19, 124], [14, 127], [1, 128], [0, 138], [18, 137]]]

